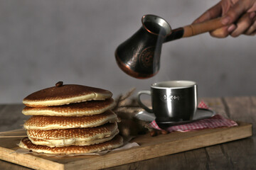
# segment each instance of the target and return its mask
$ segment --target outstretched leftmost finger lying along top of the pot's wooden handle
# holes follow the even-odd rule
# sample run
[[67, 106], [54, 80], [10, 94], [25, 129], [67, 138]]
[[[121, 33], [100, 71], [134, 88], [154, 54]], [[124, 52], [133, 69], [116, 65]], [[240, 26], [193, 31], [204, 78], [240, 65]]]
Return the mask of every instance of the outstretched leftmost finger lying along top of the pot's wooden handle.
[[201, 16], [199, 16], [193, 23], [201, 23], [203, 21], [208, 21], [213, 18], [217, 18], [221, 15], [221, 5], [220, 2], [215, 6], [209, 8], [206, 12], [204, 12]]

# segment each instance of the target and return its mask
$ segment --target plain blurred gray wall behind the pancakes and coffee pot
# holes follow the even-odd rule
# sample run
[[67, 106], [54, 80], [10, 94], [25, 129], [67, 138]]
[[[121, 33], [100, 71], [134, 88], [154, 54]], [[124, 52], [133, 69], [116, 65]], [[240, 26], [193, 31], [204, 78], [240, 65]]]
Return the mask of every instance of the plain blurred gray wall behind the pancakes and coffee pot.
[[186, 26], [218, 0], [1, 0], [0, 103], [65, 84], [109, 89], [114, 96], [155, 81], [198, 82], [199, 96], [255, 95], [256, 37], [216, 39], [208, 33], [168, 42], [156, 77], [134, 79], [114, 50], [141, 27], [146, 13]]

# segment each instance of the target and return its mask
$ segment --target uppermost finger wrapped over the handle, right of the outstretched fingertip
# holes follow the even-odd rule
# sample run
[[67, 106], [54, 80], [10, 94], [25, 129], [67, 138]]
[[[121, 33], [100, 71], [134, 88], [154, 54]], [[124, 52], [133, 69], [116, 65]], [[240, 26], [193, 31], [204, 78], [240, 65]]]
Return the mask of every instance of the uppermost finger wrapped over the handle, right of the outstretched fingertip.
[[227, 26], [230, 23], [234, 23], [235, 21], [240, 18], [242, 13], [245, 13], [247, 9], [251, 8], [253, 5], [253, 1], [250, 0], [240, 0], [237, 3], [235, 3], [234, 6], [228, 10], [228, 12], [223, 16], [221, 22]]

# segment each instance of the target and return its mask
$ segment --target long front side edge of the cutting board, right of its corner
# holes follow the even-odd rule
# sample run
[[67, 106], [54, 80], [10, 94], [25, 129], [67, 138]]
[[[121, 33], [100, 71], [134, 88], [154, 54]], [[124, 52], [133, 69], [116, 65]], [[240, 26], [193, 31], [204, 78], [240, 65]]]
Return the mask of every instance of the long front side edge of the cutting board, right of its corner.
[[[232, 137], [233, 130], [236, 130], [236, 129], [239, 129], [240, 136]], [[229, 135], [225, 136], [224, 135], [225, 132], [229, 132]], [[238, 131], [236, 131], [236, 132], [238, 132]], [[245, 133], [245, 132], [247, 132], [247, 133]], [[191, 147], [190, 149], [182, 149], [182, 148], [177, 149], [177, 147], [176, 147], [176, 151], [174, 151], [174, 152], [168, 152], [168, 150], [166, 150], [166, 152], [164, 152], [164, 153], [159, 153], [159, 154], [155, 154], [155, 155], [151, 154], [151, 155], [147, 156], [146, 159], [162, 157], [162, 156], [165, 156], [165, 155], [168, 155], [168, 154], [176, 154], [176, 153], [179, 153], [179, 152], [186, 152], [186, 151], [193, 150], [193, 149], [199, 149], [199, 148], [202, 148], [202, 147], [218, 145], [218, 144], [222, 144], [222, 143], [225, 143], [225, 142], [231, 142], [231, 141], [234, 141], [234, 140], [240, 140], [240, 139], [243, 139], [243, 138], [246, 138], [246, 137], [250, 137], [250, 136], [252, 136], [252, 124], [251, 123], [239, 122], [237, 127], [225, 128], [223, 130], [220, 130], [220, 131], [217, 131], [217, 132], [214, 132], [214, 133], [220, 135], [220, 138], [222, 138], [222, 137], [224, 137], [224, 138], [222, 140], [218, 140], [218, 142], [212, 142], [211, 144], [208, 144], [208, 145], [199, 144], [199, 145], [196, 145], [194, 147]], [[213, 134], [201, 135], [200, 136], [201, 138], [198, 139], [198, 140], [201, 140], [201, 139], [203, 139], [207, 136], [213, 136]], [[179, 146], [181, 146], [181, 141], [189, 142], [189, 140], [191, 140], [191, 138], [196, 138], [196, 137], [188, 137], [186, 140], [182, 139], [182, 140], [167, 142], [165, 145], [178, 144]], [[208, 140], [210, 140], [210, 139], [211, 138], [208, 138]], [[183, 145], [186, 145], [185, 143], [183, 143]], [[161, 149], [159, 149], [159, 147], [161, 147], [160, 145], [161, 145], [161, 143], [154, 146], [156, 148], [155, 149], [156, 152], [161, 150]], [[141, 155], [143, 149], [145, 149], [145, 147], [143, 147], [143, 148], [134, 147], [134, 148], [127, 149], [127, 150], [122, 150], [123, 154], [124, 154], [124, 152], [127, 152], [127, 156], [128, 156], [129, 159], [126, 159], [125, 161], [121, 160], [121, 159], [116, 159], [114, 161], [114, 163], [111, 163], [112, 155], [117, 154], [117, 158], [120, 158], [119, 155], [118, 155], [118, 152], [116, 152], [116, 153], [114, 152], [112, 154], [105, 154], [102, 157], [105, 157], [105, 159], [107, 159], [107, 161], [105, 161], [105, 162], [107, 162], [107, 164], [104, 163], [100, 167], [99, 167], [98, 164], [99, 164], [100, 160], [102, 159], [102, 157], [95, 157], [95, 158], [89, 158], [89, 159], [85, 159], [85, 160], [78, 160], [78, 161], [75, 161], [75, 162], [66, 163], [66, 164], [64, 164], [64, 166], [65, 166], [65, 169], [74, 169], [74, 168], [78, 168], [78, 167], [81, 169], [81, 166], [86, 164], [87, 165], [86, 167], [83, 166], [84, 169], [92, 169], [93, 170], [93, 169], [105, 169], [105, 168], [110, 168], [112, 166], [119, 166], [119, 165], [122, 165], [122, 164], [129, 164], [129, 163], [133, 163], [133, 162], [139, 162], [139, 161], [146, 160]], [[146, 146], [146, 149], [152, 150], [151, 145]], [[136, 161], [134, 161], [134, 157], [129, 157], [129, 155], [132, 155], [130, 153], [134, 154], [134, 151], [137, 152], [137, 154], [135, 154], [135, 155], [137, 155], [137, 158], [138, 158], [138, 159], [136, 159]], [[78, 166], [78, 167], [76, 167], [76, 166]]]

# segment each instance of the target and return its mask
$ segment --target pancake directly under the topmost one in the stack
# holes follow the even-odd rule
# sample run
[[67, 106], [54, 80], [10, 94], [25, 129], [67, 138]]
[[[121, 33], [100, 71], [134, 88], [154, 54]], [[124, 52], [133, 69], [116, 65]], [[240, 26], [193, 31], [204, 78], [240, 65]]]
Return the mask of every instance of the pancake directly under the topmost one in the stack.
[[50, 106], [41, 108], [32, 108], [26, 106], [23, 108], [22, 113], [24, 115], [82, 116], [100, 114], [114, 108], [114, 106], [114, 99], [108, 98], [105, 101], [86, 101], [64, 106]]

